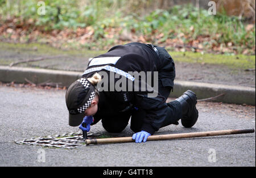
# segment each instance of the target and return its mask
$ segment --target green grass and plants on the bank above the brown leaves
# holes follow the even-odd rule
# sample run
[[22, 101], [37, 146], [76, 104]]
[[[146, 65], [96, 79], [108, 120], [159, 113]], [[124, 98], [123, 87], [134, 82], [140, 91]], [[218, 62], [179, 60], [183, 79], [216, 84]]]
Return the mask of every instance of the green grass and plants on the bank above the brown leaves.
[[[225, 14], [209, 15], [207, 10], [199, 10], [192, 5], [142, 13], [142, 5], [143, 8], [144, 5], [149, 7], [154, 1], [45, 0], [46, 15], [38, 15], [40, 6], [36, 0], [20, 0], [14, 5], [10, 5], [11, 2], [0, 0], [0, 27], [1, 21], [11, 18], [16, 18], [16, 24], [27, 25], [31, 31], [34, 27], [42, 31], [64, 28], [76, 31], [79, 27], [90, 26], [94, 29], [94, 41], [84, 45], [88, 49], [91, 46], [103, 48], [113, 45], [126, 30], [133, 35], [144, 36], [146, 42], [155, 44], [168, 45], [174, 43], [170, 40], [177, 39], [189, 45], [197, 41], [204, 49], [232, 48], [238, 54], [248, 49], [247, 53], [255, 53], [255, 26], [248, 29], [243, 19]], [[110, 32], [106, 30], [109, 28], [120, 30], [110, 38]]]

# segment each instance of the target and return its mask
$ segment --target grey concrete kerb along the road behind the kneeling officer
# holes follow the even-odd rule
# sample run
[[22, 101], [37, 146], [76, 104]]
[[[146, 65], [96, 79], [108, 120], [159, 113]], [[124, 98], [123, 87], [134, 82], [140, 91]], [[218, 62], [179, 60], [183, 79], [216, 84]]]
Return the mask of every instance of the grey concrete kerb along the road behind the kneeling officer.
[[[27, 78], [35, 83], [42, 83], [47, 80], [51, 80], [52, 82], [61, 82], [63, 86], [69, 86], [69, 84], [73, 83], [76, 79], [79, 79], [81, 75], [81, 72], [75, 71], [0, 66], [1, 82], [15, 81], [16, 83], [25, 83], [26, 81], [24, 78]], [[255, 88], [229, 86], [224, 84], [175, 80], [174, 92], [172, 92], [170, 96], [177, 98], [187, 90], [195, 92], [197, 99], [210, 98], [220, 94], [225, 94], [214, 101], [255, 105]]]

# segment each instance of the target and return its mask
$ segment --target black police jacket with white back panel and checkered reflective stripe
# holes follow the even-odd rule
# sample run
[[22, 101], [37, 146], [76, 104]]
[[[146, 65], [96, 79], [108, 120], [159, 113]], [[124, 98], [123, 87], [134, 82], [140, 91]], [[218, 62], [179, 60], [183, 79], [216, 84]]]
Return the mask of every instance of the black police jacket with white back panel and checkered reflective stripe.
[[[141, 43], [117, 45], [107, 53], [92, 58], [82, 77], [89, 78], [96, 72], [101, 74], [101, 71], [105, 71], [109, 75], [119, 74], [120, 77], [126, 77], [129, 81], [133, 80], [130, 75], [127, 75], [129, 71], [158, 71], [158, 61], [158, 54], [152, 45]], [[109, 81], [109, 89], [117, 81], [118, 78], [114, 79], [113, 83]], [[139, 79], [139, 82], [145, 81]], [[139, 91], [100, 91], [98, 111], [94, 115], [93, 124], [105, 117], [121, 116], [123, 112], [129, 112], [137, 107], [146, 111], [142, 130], [151, 135], [154, 134], [162, 125], [167, 105], [163, 96], [157, 95], [155, 98], [149, 98], [148, 93], [148, 90], [141, 91], [141, 88]]]

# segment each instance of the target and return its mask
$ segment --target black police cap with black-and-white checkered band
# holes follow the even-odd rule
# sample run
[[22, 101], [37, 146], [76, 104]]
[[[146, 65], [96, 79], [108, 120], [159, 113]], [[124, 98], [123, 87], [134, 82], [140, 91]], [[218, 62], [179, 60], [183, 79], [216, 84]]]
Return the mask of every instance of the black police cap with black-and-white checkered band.
[[86, 79], [80, 78], [68, 87], [66, 105], [69, 111], [69, 125], [79, 126], [95, 96], [95, 87]]

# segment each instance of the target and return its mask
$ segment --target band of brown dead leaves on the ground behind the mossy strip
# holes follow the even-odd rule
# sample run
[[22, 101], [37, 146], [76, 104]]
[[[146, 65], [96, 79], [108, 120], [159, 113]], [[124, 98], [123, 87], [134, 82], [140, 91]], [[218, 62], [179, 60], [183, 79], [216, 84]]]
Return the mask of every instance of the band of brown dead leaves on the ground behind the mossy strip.
[[[213, 36], [198, 35], [193, 37], [193, 31], [195, 31], [193, 26], [189, 28], [190, 32], [188, 33], [176, 33], [170, 29], [168, 34], [154, 30], [150, 35], [138, 35], [135, 29], [127, 30], [120, 27], [105, 27], [104, 34], [100, 36], [101, 40], [99, 40], [95, 38], [96, 32], [91, 26], [79, 27], [76, 30], [65, 28], [63, 30], [53, 29], [51, 31], [44, 31], [42, 27], [33, 26], [33, 23], [29, 20], [27, 23], [18, 22], [14, 18], [4, 24], [0, 24], [0, 40], [14, 43], [44, 43], [61, 49], [73, 47], [81, 49], [89, 46], [91, 50], [108, 50], [113, 45], [137, 41], [166, 46], [167, 49], [181, 52], [255, 54], [255, 44], [252, 49], [247, 49], [246, 45], [236, 46], [232, 41], [218, 43], [217, 41], [222, 38], [221, 33]], [[245, 28], [249, 32], [255, 26], [254, 24], [247, 24]], [[102, 41], [111, 41], [111, 43], [102, 44]]]

